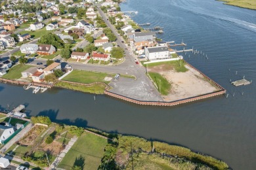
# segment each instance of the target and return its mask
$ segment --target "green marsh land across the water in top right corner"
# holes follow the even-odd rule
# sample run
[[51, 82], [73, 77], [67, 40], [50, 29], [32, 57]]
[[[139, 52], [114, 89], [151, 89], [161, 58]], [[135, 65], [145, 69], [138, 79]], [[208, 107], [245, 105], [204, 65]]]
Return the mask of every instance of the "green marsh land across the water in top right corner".
[[219, 0], [224, 1], [226, 5], [233, 5], [236, 7], [241, 7], [245, 9], [254, 9], [256, 10], [256, 1], [255, 0]]

